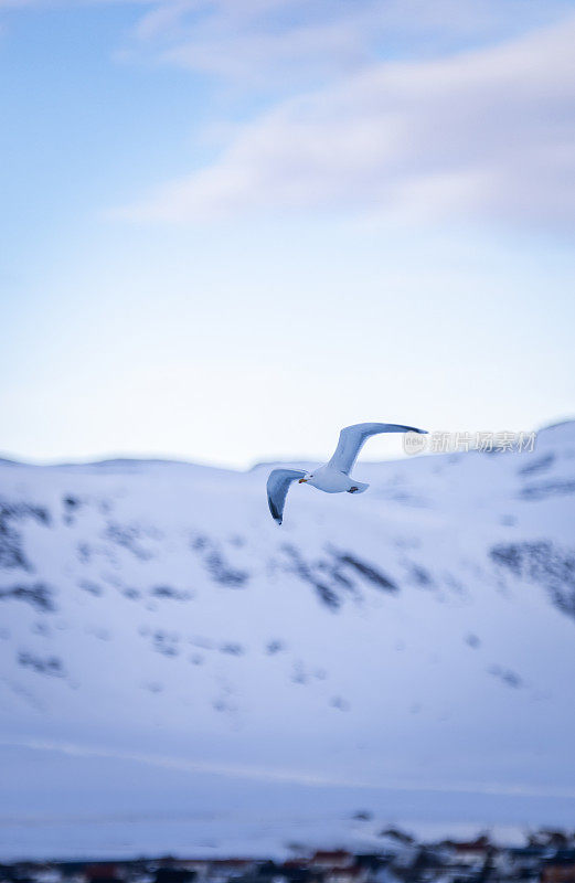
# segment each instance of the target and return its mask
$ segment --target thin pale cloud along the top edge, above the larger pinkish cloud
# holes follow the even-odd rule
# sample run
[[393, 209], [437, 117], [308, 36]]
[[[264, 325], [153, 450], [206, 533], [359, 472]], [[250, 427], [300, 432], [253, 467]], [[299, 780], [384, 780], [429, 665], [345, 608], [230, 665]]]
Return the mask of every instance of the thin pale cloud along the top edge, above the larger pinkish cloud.
[[294, 84], [382, 55], [432, 56], [553, 21], [562, 0], [164, 0], [135, 36], [164, 62], [224, 79]]

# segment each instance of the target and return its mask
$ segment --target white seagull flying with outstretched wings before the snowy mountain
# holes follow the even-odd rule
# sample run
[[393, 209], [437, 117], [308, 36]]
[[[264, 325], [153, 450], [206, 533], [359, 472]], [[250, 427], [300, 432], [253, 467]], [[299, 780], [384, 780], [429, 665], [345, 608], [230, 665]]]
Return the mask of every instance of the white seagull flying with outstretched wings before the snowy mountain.
[[416, 429], [415, 426], [400, 426], [396, 423], [356, 423], [345, 426], [340, 433], [336, 453], [329, 462], [320, 466], [312, 472], [302, 469], [274, 469], [267, 479], [267, 502], [274, 521], [281, 524], [284, 506], [287, 492], [292, 481], [298, 485], [311, 485], [312, 488], [323, 490], [326, 493], [363, 493], [369, 485], [354, 481], [350, 472], [358, 459], [358, 455], [366, 438], [379, 433], [419, 433], [426, 434], [427, 429]]

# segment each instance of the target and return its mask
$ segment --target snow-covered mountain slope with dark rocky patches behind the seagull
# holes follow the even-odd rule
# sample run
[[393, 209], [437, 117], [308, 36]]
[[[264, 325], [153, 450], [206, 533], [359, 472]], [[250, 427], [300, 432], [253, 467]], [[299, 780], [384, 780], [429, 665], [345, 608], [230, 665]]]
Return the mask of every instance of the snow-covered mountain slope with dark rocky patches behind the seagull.
[[[296, 486], [283, 528], [268, 471], [0, 462], [3, 854], [575, 812], [575, 424]], [[70, 840], [173, 808], [230, 830]]]

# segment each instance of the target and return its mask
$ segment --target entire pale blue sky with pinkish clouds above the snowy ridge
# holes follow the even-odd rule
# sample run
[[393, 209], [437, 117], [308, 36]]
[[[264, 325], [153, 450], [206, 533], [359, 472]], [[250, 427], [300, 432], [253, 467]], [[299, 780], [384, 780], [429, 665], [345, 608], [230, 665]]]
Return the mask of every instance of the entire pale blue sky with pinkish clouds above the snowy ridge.
[[574, 45], [573, 0], [0, 0], [3, 455], [573, 416]]

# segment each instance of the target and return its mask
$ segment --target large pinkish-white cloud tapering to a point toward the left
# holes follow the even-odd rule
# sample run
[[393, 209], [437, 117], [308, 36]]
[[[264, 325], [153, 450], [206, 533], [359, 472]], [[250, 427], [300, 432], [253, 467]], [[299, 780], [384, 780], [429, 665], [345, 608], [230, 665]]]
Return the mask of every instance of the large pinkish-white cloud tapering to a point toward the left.
[[243, 127], [213, 164], [120, 210], [185, 222], [352, 210], [575, 220], [575, 19], [494, 47], [382, 62]]

